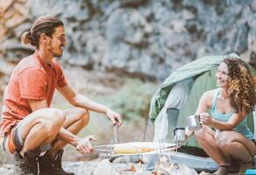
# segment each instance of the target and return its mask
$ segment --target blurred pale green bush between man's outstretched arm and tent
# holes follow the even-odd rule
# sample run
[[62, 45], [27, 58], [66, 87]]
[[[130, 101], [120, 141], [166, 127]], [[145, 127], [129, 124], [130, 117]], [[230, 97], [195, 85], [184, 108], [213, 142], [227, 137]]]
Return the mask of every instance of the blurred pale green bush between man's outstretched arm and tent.
[[157, 85], [139, 79], [127, 79], [116, 94], [98, 98], [98, 102], [108, 105], [124, 117], [124, 120], [141, 120], [147, 117], [149, 105]]

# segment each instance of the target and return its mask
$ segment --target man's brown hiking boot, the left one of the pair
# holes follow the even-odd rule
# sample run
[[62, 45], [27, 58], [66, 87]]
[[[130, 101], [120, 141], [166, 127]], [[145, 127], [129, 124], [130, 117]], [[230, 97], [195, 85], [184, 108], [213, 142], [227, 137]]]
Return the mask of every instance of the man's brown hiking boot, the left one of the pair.
[[37, 175], [39, 153], [34, 151], [26, 151], [24, 158], [18, 153], [14, 152], [14, 173], [16, 175]]

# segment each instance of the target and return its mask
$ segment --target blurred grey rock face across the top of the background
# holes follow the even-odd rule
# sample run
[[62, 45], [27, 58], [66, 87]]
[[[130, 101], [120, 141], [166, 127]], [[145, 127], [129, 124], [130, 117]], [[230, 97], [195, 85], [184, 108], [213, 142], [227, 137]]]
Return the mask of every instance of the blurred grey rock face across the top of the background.
[[207, 54], [256, 59], [256, 1], [5, 0], [0, 3], [0, 58], [32, 52], [20, 36], [41, 15], [60, 17], [71, 65], [164, 79]]

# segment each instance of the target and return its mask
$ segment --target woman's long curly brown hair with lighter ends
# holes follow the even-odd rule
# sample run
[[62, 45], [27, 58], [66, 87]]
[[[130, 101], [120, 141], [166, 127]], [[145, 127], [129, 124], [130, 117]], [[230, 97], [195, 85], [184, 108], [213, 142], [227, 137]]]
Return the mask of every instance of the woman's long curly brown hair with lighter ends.
[[229, 57], [224, 59], [228, 67], [229, 75], [229, 96], [231, 106], [240, 115], [245, 115], [252, 111], [256, 104], [255, 81], [252, 71], [241, 59]]

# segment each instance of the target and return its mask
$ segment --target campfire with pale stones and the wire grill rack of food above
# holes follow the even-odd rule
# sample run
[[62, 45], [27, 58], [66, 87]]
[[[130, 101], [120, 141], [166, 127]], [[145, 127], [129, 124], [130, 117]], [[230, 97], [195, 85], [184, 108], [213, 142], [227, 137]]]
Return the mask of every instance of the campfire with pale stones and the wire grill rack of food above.
[[[172, 158], [176, 155], [177, 149], [180, 144], [167, 144], [167, 143], [153, 143], [153, 142], [132, 142], [124, 144], [110, 144], [97, 146], [96, 151], [106, 151], [110, 157], [113, 155], [119, 156], [138, 156], [138, 163], [127, 164], [122, 168], [115, 168], [116, 163], [110, 162], [110, 157], [103, 159], [97, 166], [94, 175], [197, 175], [197, 172], [188, 168], [187, 165], [174, 164]], [[103, 148], [106, 148], [104, 150]], [[111, 151], [111, 152], [110, 152]], [[146, 161], [150, 155], [156, 154], [159, 161], [154, 163], [154, 170], [152, 172], [146, 171]], [[145, 161], [146, 160], [146, 161]], [[203, 174], [203, 173], [201, 173]], [[204, 173], [207, 174], [207, 173]]]

